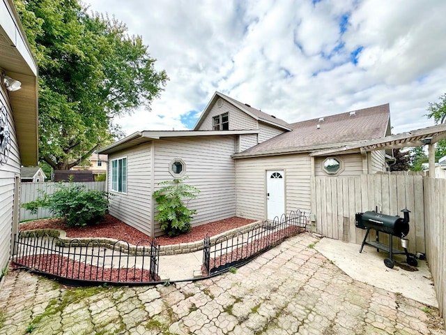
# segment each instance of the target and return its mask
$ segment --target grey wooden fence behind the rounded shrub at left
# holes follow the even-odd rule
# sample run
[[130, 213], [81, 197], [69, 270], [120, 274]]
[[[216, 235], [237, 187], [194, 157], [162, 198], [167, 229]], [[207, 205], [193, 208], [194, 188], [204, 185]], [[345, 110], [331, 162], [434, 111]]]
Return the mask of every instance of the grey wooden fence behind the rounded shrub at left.
[[[61, 183], [68, 185], [69, 183]], [[85, 185], [89, 190], [105, 191], [105, 181], [92, 181], [88, 183], [75, 183]], [[25, 204], [36, 200], [40, 191], [46, 194], [53, 194], [59, 183], [21, 183], [20, 184], [20, 204]], [[38, 218], [52, 218], [53, 214], [46, 208], [39, 208], [37, 214], [31, 214], [30, 211], [20, 206], [20, 221], [36, 220]]]

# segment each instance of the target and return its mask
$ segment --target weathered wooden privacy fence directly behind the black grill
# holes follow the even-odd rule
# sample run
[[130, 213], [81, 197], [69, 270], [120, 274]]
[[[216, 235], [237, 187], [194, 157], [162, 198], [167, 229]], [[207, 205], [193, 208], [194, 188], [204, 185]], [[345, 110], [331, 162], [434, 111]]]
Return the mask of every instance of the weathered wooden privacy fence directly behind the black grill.
[[[357, 212], [374, 211], [402, 217], [410, 213], [409, 252], [426, 252], [423, 177], [404, 174], [362, 174], [357, 177], [315, 177], [316, 229], [323, 236], [360, 244], [365, 230], [355, 227]], [[380, 241], [388, 243], [386, 234]], [[371, 230], [371, 239], [374, 231]], [[394, 237], [394, 246], [399, 239]]]

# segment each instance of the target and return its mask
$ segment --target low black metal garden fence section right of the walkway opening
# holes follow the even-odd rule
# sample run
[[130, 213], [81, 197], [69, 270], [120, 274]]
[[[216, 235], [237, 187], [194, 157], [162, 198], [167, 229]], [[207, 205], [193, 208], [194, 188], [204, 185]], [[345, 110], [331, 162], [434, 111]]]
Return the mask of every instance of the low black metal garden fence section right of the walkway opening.
[[289, 216], [282, 214], [280, 218], [276, 216], [272, 221], [258, 223], [248, 232], [219, 237], [212, 246], [207, 234], [203, 241], [203, 275], [217, 274], [244, 265], [287, 237], [305, 232], [307, 221], [305, 212], [291, 211]]

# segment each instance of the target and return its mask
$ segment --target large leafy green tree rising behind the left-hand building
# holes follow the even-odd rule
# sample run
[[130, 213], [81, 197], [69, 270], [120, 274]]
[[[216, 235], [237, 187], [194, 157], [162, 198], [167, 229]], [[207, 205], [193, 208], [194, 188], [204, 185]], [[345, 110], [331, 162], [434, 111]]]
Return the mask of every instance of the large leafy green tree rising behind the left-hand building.
[[39, 66], [40, 160], [68, 170], [113, 140], [113, 117], [149, 108], [167, 75], [140, 36], [76, 0], [15, 5]]

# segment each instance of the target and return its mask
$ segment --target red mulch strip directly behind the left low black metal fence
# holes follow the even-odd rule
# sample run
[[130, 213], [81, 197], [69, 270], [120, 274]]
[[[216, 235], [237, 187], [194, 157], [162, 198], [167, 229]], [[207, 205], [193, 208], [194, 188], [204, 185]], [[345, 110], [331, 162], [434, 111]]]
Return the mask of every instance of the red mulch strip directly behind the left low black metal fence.
[[[26, 256], [16, 259], [15, 262], [20, 265], [25, 265], [26, 267], [46, 272], [47, 274], [54, 274], [69, 279], [114, 283], [148, 283], [152, 281], [149, 270], [96, 267], [59, 255]], [[160, 277], [157, 274], [155, 274], [154, 277], [154, 281], [160, 281]]]

